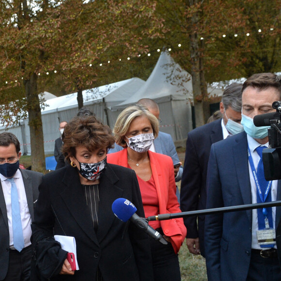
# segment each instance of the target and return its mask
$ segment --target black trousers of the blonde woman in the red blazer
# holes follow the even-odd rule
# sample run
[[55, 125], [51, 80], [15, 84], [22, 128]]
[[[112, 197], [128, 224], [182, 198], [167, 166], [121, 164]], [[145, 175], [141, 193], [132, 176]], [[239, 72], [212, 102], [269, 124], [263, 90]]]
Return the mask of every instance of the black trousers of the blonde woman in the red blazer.
[[[163, 234], [162, 229], [157, 229]], [[172, 244], [163, 245], [150, 238], [154, 281], [180, 281], [181, 272], [178, 255], [174, 253]]]

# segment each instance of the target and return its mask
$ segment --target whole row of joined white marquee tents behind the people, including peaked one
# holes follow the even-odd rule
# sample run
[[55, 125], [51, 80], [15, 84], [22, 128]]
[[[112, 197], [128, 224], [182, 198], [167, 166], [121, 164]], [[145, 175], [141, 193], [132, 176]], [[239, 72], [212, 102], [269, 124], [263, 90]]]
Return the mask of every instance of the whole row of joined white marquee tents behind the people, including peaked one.
[[[210, 95], [222, 91], [208, 87]], [[113, 128], [119, 113], [141, 98], [151, 98], [160, 109], [160, 130], [171, 134], [173, 141], [187, 138], [192, 130], [192, 78], [175, 63], [168, 51], [163, 51], [147, 81], [130, 78], [109, 85], [85, 90], [83, 105], [93, 111], [104, 124]], [[78, 112], [77, 93], [60, 97], [45, 92], [45, 108], [41, 110], [45, 154], [53, 154], [55, 140], [61, 136], [59, 124], [69, 122]], [[28, 119], [16, 126], [0, 126], [0, 133], [10, 131], [21, 143], [21, 152], [31, 154]]]

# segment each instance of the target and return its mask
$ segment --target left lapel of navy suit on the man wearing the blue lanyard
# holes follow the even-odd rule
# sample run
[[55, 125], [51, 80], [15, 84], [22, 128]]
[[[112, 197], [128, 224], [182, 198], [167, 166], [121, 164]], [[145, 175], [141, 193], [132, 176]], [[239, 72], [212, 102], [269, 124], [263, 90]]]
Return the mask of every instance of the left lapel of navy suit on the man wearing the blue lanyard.
[[[247, 149], [247, 134], [243, 133], [239, 138], [236, 139], [236, 143], [233, 146], [234, 167], [237, 172], [237, 179], [243, 199], [243, 204], [252, 203]], [[252, 211], [247, 210], [246, 212], [251, 223]]]

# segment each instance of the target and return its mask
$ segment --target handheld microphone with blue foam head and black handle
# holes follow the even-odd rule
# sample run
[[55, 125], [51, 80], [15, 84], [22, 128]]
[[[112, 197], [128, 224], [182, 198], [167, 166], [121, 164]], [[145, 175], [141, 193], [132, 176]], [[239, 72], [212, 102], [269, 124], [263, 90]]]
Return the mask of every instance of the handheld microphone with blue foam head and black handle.
[[112, 203], [112, 211], [118, 219], [124, 222], [130, 220], [138, 228], [143, 230], [146, 234], [151, 236], [156, 241], [159, 241], [164, 245], [168, 244], [168, 241], [163, 238], [160, 233], [158, 233], [154, 228], [148, 225], [148, 221], [146, 219], [143, 219], [136, 214], [137, 208], [129, 200], [125, 198], [116, 199]]

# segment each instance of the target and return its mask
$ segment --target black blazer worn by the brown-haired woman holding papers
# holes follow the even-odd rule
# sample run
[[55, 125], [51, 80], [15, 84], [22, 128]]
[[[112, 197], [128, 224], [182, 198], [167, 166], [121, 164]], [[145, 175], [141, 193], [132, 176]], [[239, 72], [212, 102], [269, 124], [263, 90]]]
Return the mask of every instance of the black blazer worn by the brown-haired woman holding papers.
[[79, 270], [74, 276], [51, 280], [95, 280], [99, 267], [104, 281], [153, 280], [147, 235], [132, 223], [117, 219], [111, 210], [117, 198], [126, 198], [144, 217], [141, 192], [133, 170], [108, 164], [100, 179], [98, 230], [86, 204], [77, 168], [66, 166], [44, 176], [32, 223], [32, 244], [43, 236], [74, 236]]

